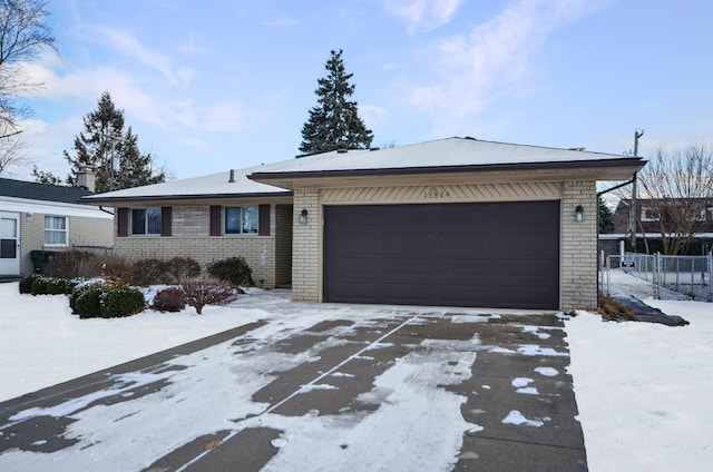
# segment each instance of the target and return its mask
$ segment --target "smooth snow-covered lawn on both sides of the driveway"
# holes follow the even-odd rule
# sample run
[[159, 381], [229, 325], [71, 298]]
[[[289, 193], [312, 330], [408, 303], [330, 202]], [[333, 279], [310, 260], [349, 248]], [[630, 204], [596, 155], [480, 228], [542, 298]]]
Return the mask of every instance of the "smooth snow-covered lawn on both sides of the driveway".
[[[569, 373], [589, 470], [709, 470], [713, 304], [654, 301], [646, 286], [629, 278], [619, 286], [691, 324], [605, 323], [587, 312], [566, 322]], [[0, 401], [268, 319], [270, 303], [258, 301], [260, 295], [254, 302], [251, 297], [232, 306], [206, 307], [203, 315], [188, 308], [177, 314], [147, 311], [128, 318], [79, 319], [62, 296], [19, 295], [17, 283], [0, 284]]]

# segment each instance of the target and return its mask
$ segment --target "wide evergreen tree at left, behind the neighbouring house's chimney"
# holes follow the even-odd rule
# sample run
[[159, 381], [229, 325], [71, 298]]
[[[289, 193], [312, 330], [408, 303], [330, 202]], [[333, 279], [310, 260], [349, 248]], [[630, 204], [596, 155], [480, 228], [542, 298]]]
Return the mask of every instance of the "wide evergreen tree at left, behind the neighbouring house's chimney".
[[85, 166], [95, 170], [97, 193], [166, 180], [163, 169], [154, 169], [152, 155], [139, 151], [131, 128], [124, 132], [124, 110], [116, 108], [108, 91], [101, 94], [97, 110], [86, 115], [84, 122], [85, 130], [75, 137], [74, 154], [64, 151], [70, 166], [67, 184], [76, 185], [77, 173]]

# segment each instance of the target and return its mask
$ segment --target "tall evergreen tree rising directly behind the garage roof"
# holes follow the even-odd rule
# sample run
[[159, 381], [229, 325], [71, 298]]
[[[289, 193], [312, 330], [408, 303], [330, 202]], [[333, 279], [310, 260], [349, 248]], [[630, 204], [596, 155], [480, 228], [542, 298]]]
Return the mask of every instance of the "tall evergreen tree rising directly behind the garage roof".
[[302, 155], [328, 153], [340, 148], [364, 149], [371, 146], [373, 134], [359, 117], [356, 101], [349, 97], [355, 86], [345, 73], [342, 50], [331, 51], [326, 61], [326, 77], [318, 80], [318, 105], [310, 110], [310, 119], [302, 127]]

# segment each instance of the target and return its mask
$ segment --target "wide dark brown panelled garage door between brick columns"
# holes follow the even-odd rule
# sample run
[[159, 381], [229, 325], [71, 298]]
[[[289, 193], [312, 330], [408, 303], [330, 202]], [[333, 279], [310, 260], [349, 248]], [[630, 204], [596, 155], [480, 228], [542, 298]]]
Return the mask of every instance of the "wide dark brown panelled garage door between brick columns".
[[324, 298], [559, 306], [559, 201], [324, 208]]

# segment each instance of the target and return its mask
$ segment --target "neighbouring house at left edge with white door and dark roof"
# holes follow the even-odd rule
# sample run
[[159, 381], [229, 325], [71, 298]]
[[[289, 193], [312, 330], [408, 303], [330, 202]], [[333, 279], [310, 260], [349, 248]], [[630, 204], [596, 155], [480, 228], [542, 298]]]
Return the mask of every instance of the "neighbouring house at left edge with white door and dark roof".
[[0, 277], [32, 274], [32, 252], [111, 248], [114, 215], [78, 204], [89, 195], [80, 187], [0, 178]]

